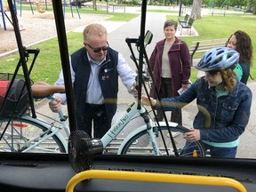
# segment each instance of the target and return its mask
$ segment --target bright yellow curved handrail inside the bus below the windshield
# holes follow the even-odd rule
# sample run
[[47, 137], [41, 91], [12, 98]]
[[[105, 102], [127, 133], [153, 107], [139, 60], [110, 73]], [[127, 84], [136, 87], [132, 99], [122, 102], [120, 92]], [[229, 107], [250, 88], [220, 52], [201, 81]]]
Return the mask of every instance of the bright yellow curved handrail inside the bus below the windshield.
[[88, 170], [74, 175], [66, 186], [66, 192], [73, 192], [76, 184], [82, 180], [105, 179], [105, 180], [136, 180], [151, 182], [183, 183], [196, 185], [212, 185], [236, 188], [239, 192], [246, 192], [244, 185], [237, 180], [212, 176], [180, 175], [153, 172], [120, 172], [106, 170]]

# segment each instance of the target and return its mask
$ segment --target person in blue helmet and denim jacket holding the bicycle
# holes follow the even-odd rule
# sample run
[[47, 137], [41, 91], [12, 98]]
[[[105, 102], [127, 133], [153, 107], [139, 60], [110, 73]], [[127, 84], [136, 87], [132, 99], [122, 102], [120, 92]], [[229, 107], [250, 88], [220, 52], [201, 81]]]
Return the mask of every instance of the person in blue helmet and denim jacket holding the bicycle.
[[[235, 50], [214, 48], [205, 52], [196, 66], [205, 76], [198, 78], [186, 92], [175, 98], [150, 98], [154, 108], [162, 105], [166, 110], [183, 108], [196, 99], [198, 112], [193, 129], [183, 137], [187, 143], [201, 140], [212, 157], [235, 158], [239, 137], [249, 121], [252, 92], [236, 79], [233, 69], [238, 60], [239, 53]], [[142, 102], [150, 105], [145, 95]]]

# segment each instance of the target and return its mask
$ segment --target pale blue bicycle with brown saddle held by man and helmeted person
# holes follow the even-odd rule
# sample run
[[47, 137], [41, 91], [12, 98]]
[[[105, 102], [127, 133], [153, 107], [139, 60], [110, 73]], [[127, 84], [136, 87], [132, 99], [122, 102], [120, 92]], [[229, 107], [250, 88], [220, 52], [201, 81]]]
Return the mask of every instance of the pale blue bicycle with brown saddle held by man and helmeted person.
[[[60, 90], [59, 86], [54, 85], [48, 85], [48, 84], [42, 84], [42, 83], [35, 83], [33, 84], [34, 87], [34, 93], [33, 95], [36, 98], [44, 98], [47, 94], [47, 92], [58, 92]], [[35, 89], [36, 93], [35, 93]], [[51, 90], [50, 90], [51, 89]], [[33, 89], [32, 89], [33, 90]], [[46, 94], [45, 94], [46, 93]], [[52, 97], [49, 97], [48, 99], [53, 99]], [[125, 125], [128, 124], [132, 117], [137, 114], [137, 100], [135, 100], [132, 105], [126, 109], [126, 113], [124, 116], [122, 116], [119, 121], [114, 124], [111, 129], [108, 131], [108, 133], [101, 139], [104, 148], [105, 153], [108, 152], [108, 150], [111, 150], [111, 148], [108, 148], [109, 143], [112, 140], [116, 139], [116, 136], [119, 132], [121, 132]], [[38, 115], [39, 113], [36, 112]], [[70, 132], [68, 128], [67, 116], [63, 116], [62, 111], [60, 110], [58, 112], [60, 121], [45, 116], [43, 114], [40, 114], [41, 116], [47, 117], [48, 120], [40, 119], [40, 118], [32, 118], [29, 114], [29, 110], [21, 116], [19, 119], [12, 119], [10, 124], [8, 125], [6, 132], [4, 132], [3, 141], [0, 142], [0, 151], [8, 151], [8, 152], [52, 152], [52, 153], [67, 153], [68, 152], [68, 143], [67, 140], [64, 138], [64, 136], [60, 133], [61, 130], [64, 130], [66, 132], [66, 136], [68, 137]], [[140, 109], [140, 116], [144, 116], [144, 118], [148, 118], [148, 114], [146, 111], [146, 108]], [[49, 120], [52, 120], [50, 122]], [[148, 118], [149, 120], [149, 118]], [[148, 121], [147, 120], [147, 121]], [[0, 120], [0, 130], [4, 129], [5, 125], [7, 124], [7, 119]], [[59, 125], [56, 125], [59, 124]], [[185, 128], [177, 126], [177, 124], [169, 124], [171, 125], [172, 129], [172, 135], [175, 136], [176, 143], [180, 143], [178, 141], [181, 139], [181, 135], [177, 134], [180, 132], [187, 132]], [[122, 142], [121, 146], [119, 147], [117, 154], [136, 154], [141, 155], [141, 153], [146, 153], [147, 155], [152, 153], [154, 150], [153, 148], [150, 148], [150, 146], [146, 146], [146, 143], [149, 144], [148, 140], [148, 131], [146, 129], [146, 126], [151, 127], [150, 130], [150, 138], [153, 140], [153, 138], [158, 138], [156, 141], [151, 141], [152, 143], [157, 143], [156, 146], [158, 146], [157, 150], [155, 150], [156, 155], [160, 155], [160, 151], [164, 151], [163, 144], [162, 148], [159, 147], [160, 144], [160, 131], [164, 132], [163, 134], [167, 137], [167, 126], [164, 124], [164, 122], [160, 122], [160, 129], [156, 128], [157, 125], [154, 123], [151, 119], [148, 121], [147, 125], [141, 126], [140, 128], [136, 129], [134, 132], [129, 134], [124, 141]], [[155, 134], [155, 136], [154, 136]], [[53, 148], [50, 148], [52, 140], [54, 140]], [[182, 143], [182, 142], [181, 142]], [[181, 143], [179, 145], [181, 145]], [[170, 146], [170, 143], [166, 143], [167, 146]], [[179, 146], [181, 148], [182, 146]], [[148, 152], [147, 152], [148, 151]], [[199, 148], [199, 152], [197, 156], [203, 156], [201, 155], [202, 151], [201, 148]], [[166, 153], [162, 153], [162, 155], [166, 155]]]

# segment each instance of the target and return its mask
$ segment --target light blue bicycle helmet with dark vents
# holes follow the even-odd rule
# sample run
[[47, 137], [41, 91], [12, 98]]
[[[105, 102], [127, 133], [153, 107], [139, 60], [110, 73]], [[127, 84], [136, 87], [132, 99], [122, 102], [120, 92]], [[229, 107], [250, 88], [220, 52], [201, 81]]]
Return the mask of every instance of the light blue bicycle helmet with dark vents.
[[196, 68], [202, 71], [218, 70], [220, 68], [236, 68], [240, 54], [228, 47], [218, 47], [205, 52]]

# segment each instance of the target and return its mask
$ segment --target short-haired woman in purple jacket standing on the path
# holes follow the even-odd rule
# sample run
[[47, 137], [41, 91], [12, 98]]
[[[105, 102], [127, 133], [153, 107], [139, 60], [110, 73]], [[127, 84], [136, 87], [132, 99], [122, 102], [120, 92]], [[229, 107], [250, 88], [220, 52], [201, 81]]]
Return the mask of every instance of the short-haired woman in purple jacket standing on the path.
[[[149, 65], [153, 71], [156, 87], [153, 86], [150, 96], [157, 98], [159, 92], [160, 99], [178, 96], [178, 90], [188, 89], [190, 77], [190, 54], [188, 45], [175, 36], [177, 31], [177, 22], [166, 20], [164, 22], [165, 38], [156, 43], [152, 52]], [[158, 121], [163, 121], [164, 114], [161, 109], [156, 110]], [[182, 125], [181, 108], [172, 111], [171, 121]]]

